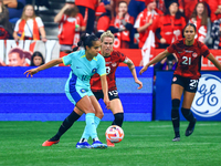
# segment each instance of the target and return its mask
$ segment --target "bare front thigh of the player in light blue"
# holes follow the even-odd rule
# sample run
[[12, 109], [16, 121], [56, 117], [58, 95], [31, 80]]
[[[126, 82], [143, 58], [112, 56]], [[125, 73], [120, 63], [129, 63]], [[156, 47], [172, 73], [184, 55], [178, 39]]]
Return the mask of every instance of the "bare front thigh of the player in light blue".
[[88, 95], [83, 96], [75, 105], [78, 110], [83, 111], [85, 114], [95, 113], [94, 106]]

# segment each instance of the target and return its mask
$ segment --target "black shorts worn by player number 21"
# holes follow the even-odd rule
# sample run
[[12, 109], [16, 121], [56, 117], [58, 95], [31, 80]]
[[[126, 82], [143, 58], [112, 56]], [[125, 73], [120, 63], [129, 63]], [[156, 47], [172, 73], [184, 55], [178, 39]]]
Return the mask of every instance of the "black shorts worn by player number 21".
[[178, 84], [185, 89], [185, 91], [196, 93], [198, 87], [199, 79], [192, 80], [180, 75], [172, 76], [172, 84]]

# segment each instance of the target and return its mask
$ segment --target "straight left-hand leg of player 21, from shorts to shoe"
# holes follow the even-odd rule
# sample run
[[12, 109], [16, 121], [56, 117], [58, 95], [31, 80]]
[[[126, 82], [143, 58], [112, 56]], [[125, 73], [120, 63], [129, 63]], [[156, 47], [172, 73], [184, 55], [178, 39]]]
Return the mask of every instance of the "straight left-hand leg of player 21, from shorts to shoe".
[[172, 100], [172, 108], [171, 108], [171, 121], [175, 131], [175, 138], [173, 142], [180, 141], [180, 116], [179, 116], [179, 106], [180, 106], [180, 98], [183, 92], [183, 86], [180, 84], [172, 83], [171, 85], [171, 100]]

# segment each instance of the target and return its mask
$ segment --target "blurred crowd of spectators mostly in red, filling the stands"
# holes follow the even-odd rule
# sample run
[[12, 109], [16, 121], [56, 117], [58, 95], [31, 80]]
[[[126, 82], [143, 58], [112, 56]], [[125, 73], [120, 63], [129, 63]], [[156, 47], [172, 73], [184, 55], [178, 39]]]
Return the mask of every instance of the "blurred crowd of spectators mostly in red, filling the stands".
[[[42, 40], [46, 33], [40, 7], [50, 9], [48, 0], [0, 0], [0, 39]], [[41, 12], [41, 11], [39, 11]], [[72, 51], [83, 32], [115, 34], [114, 49], [141, 49], [152, 32], [155, 45], [166, 49], [182, 38], [188, 22], [196, 24], [196, 40], [210, 49], [221, 48], [221, 0], [65, 0], [54, 15], [59, 24], [60, 51]], [[172, 69], [176, 58], [164, 60], [159, 69]], [[167, 63], [167, 66], [165, 65]]]

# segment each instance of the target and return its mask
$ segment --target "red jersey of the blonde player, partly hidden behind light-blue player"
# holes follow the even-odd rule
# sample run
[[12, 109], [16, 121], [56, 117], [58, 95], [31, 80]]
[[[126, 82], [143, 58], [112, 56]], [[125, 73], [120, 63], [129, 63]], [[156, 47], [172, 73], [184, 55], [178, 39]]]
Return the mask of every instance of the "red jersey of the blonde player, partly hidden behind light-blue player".
[[[104, 56], [106, 62], [108, 91], [117, 90], [115, 72], [120, 62], [126, 60], [126, 55], [119, 51], [113, 51], [109, 56]], [[101, 77], [96, 73], [91, 79], [91, 89], [93, 92], [102, 91]]]

